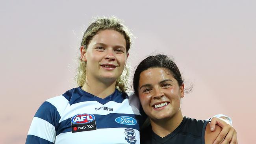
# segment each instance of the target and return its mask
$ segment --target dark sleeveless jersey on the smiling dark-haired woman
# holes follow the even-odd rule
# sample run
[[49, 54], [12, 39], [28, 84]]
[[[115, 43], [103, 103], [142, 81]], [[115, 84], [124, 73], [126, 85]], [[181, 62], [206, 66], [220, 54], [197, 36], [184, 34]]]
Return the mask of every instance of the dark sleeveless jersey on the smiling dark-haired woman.
[[150, 125], [141, 131], [141, 144], [204, 144], [204, 133], [208, 122], [184, 116], [181, 124], [163, 138], [156, 135]]

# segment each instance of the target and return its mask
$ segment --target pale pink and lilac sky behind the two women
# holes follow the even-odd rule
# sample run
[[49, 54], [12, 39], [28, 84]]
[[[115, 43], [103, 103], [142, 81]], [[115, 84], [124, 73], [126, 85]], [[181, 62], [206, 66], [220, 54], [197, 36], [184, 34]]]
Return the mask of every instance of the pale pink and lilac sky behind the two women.
[[92, 17], [111, 15], [137, 37], [132, 69], [152, 52], [172, 55], [185, 84], [194, 84], [183, 114], [226, 114], [239, 143], [255, 143], [255, 7], [254, 0], [1, 1], [0, 143], [23, 144], [41, 103], [75, 86], [83, 31]]

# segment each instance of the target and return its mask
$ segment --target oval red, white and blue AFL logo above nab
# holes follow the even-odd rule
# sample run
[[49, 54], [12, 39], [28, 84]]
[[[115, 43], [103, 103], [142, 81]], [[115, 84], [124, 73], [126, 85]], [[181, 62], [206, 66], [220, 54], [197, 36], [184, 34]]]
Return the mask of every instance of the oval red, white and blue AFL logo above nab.
[[92, 122], [95, 120], [95, 117], [93, 114], [77, 114], [71, 118], [72, 124], [87, 124], [89, 122]]

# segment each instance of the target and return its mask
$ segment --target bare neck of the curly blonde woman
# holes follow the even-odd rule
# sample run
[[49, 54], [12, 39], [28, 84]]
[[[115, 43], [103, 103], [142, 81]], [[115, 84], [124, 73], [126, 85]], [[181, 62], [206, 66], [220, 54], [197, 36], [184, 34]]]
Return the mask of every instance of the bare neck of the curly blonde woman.
[[115, 91], [115, 81], [102, 82], [95, 79], [86, 78], [82, 90], [89, 92], [99, 98], [106, 98]]

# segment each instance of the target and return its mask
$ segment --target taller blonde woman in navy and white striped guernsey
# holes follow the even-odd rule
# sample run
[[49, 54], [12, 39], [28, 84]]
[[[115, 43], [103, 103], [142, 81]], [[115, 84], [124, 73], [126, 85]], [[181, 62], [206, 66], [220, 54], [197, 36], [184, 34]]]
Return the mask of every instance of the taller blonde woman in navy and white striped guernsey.
[[79, 87], [39, 107], [26, 144], [140, 143], [145, 116], [138, 98], [125, 92], [131, 35], [115, 17], [91, 23], [80, 47]]

